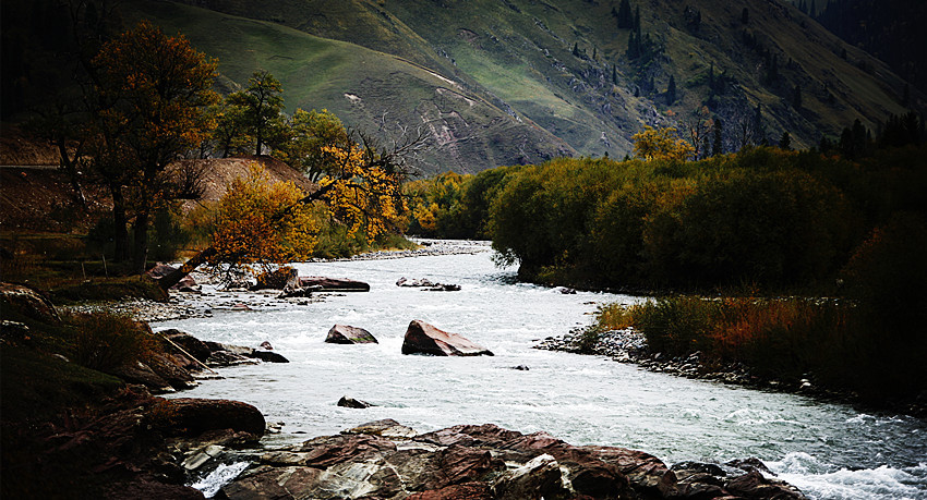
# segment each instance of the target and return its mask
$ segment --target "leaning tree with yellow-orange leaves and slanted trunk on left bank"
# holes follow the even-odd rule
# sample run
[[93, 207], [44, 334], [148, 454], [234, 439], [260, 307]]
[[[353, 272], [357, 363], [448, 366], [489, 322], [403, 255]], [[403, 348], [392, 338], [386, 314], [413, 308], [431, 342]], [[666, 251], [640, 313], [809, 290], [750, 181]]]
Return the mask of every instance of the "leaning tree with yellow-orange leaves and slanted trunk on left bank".
[[345, 225], [349, 236], [363, 234], [372, 242], [401, 223], [407, 158], [424, 141], [419, 134], [385, 148], [354, 134], [344, 146], [325, 146], [327, 173], [309, 194], [286, 184], [268, 186], [260, 172], [236, 181], [220, 200], [213, 244], [159, 284], [169, 289], [203, 264], [269, 268], [304, 259], [317, 242], [320, 221], [313, 217], [320, 214]]

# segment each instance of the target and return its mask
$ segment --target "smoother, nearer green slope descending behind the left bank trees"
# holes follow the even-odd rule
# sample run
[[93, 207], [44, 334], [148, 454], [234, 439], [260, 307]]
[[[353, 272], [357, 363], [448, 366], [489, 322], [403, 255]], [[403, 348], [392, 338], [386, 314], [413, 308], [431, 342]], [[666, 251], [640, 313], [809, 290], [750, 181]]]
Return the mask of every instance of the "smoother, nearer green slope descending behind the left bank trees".
[[530, 120], [398, 56], [179, 3], [125, 7], [127, 21], [149, 19], [218, 58], [229, 86], [246, 82], [255, 69], [270, 71], [284, 84], [290, 112], [325, 108], [387, 141], [398, 138], [400, 127], [409, 134], [424, 129], [433, 147], [421, 158], [422, 173], [474, 172], [575, 154]]

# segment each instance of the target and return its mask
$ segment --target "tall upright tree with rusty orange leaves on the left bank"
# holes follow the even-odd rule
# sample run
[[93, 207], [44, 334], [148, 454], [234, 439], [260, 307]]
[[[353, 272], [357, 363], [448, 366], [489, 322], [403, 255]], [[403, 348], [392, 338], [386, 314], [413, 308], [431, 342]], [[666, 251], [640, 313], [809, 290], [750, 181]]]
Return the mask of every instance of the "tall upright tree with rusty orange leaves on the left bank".
[[97, 98], [109, 103], [95, 117], [94, 167], [110, 186], [117, 224], [124, 218], [117, 210], [134, 212], [132, 264], [141, 272], [149, 217], [168, 200], [196, 194], [193, 172], [166, 169], [215, 127], [205, 109], [218, 100], [218, 63], [183, 36], [143, 21], [105, 44], [93, 64]]

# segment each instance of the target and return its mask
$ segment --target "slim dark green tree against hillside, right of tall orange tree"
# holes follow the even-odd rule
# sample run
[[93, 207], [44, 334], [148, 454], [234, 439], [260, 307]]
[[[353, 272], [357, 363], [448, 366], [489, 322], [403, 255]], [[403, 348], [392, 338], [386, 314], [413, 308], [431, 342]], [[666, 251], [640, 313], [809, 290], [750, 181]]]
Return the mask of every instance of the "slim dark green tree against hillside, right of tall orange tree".
[[284, 109], [284, 98], [280, 96], [284, 86], [269, 72], [255, 71], [248, 81], [243, 92], [230, 94], [226, 99], [229, 103], [244, 109], [242, 119], [245, 130], [254, 137], [254, 154], [261, 155], [264, 145], [279, 139], [282, 122], [280, 111]]

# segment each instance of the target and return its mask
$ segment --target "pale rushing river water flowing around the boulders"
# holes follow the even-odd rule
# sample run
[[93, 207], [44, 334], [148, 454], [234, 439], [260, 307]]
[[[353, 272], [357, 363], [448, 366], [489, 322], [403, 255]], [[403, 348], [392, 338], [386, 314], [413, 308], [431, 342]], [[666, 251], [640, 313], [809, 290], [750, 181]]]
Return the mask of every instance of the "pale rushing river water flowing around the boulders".
[[[224, 343], [256, 346], [267, 340], [290, 359], [226, 368], [225, 379], [178, 394], [257, 406], [268, 422], [285, 423], [284, 434], [265, 438], [268, 446], [380, 418], [419, 431], [493, 423], [545, 430], [574, 444], [640, 449], [667, 464], [757, 456], [812, 498], [927, 498], [924, 420], [531, 349], [537, 339], [589, 324], [595, 304], [634, 297], [566, 295], [515, 283], [514, 269], [495, 267], [489, 252], [297, 267], [302, 276], [365, 281], [371, 292], [300, 305], [208, 289], [201, 300], [213, 306], [212, 317], [154, 325]], [[400, 277], [462, 290], [399, 288]], [[245, 301], [254, 310], [224, 308]], [[404, 356], [402, 336], [412, 319], [460, 333], [495, 356]], [[335, 324], [365, 328], [380, 343], [326, 344]], [[511, 369], [517, 365], [530, 369]], [[342, 408], [336, 405], [342, 395], [376, 406]]]

